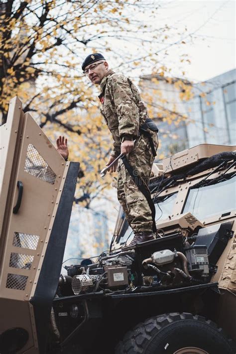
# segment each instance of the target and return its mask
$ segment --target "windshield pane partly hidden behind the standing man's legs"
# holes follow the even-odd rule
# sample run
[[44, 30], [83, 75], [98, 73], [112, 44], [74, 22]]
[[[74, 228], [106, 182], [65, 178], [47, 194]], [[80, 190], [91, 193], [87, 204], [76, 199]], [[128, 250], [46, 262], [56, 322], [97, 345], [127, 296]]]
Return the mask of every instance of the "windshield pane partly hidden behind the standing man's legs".
[[[176, 199], [177, 193], [169, 194], [164, 197], [157, 198], [155, 201], [156, 217], [155, 220], [165, 220], [170, 214], [172, 214], [174, 202]], [[128, 223], [125, 222], [121, 236], [119, 238], [120, 244], [126, 244], [128, 239], [131, 241], [133, 238], [133, 232]]]

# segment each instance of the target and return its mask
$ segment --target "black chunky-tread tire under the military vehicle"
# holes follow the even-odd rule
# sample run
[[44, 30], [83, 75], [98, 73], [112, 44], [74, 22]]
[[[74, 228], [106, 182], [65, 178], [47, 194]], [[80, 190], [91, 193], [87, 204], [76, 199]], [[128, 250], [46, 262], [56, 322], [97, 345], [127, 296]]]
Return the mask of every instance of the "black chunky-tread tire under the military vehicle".
[[116, 354], [235, 354], [223, 330], [204, 317], [170, 313], [147, 319], [118, 343]]

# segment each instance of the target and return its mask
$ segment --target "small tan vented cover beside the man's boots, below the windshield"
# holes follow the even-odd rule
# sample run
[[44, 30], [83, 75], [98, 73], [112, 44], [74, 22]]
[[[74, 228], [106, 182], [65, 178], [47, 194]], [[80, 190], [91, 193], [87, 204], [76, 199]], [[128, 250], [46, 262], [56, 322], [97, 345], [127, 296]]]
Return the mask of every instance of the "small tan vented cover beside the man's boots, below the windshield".
[[187, 236], [187, 231], [204, 228], [204, 225], [191, 213], [185, 213], [180, 216], [169, 217], [169, 220], [156, 224], [156, 228], [163, 230], [167, 234], [181, 231], [184, 236]]

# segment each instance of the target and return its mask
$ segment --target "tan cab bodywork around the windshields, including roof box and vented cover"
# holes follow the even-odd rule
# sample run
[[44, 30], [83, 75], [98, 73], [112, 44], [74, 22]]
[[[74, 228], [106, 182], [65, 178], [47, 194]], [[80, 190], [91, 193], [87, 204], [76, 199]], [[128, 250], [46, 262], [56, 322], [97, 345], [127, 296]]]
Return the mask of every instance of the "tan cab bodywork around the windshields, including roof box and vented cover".
[[[155, 164], [152, 173], [154, 177], [160, 177], [163, 173], [165, 174], [163, 177], [171, 177], [175, 174], [181, 174], [185, 168], [189, 170], [195, 167], [202, 159], [206, 159], [220, 152], [235, 150], [236, 146], [202, 144], [166, 158], [163, 160], [163, 165]], [[193, 231], [193, 227], [196, 227], [197, 230], [199, 226], [208, 227], [223, 222], [234, 221], [232, 228], [234, 235], [229, 239], [226, 248], [217, 262], [218, 269], [212, 276], [211, 282], [219, 283], [219, 290], [222, 295], [220, 297], [219, 307], [215, 309], [218, 314], [218, 325], [222, 326], [225, 331], [236, 340], [236, 210], [226, 213], [227, 215], [221, 213], [212, 217], [205, 217], [202, 220], [197, 220], [194, 215], [192, 216], [190, 213], [184, 212], [185, 201], [187, 200], [191, 187], [202, 181], [210, 173], [212, 174], [209, 180], [221, 176], [225, 172], [229, 174], [235, 172], [236, 166], [232, 166], [231, 169], [227, 171], [226, 169], [221, 169], [214, 172], [215, 169], [216, 168], [210, 168], [195, 175], [187, 176], [185, 180], [180, 180], [178, 185], [164, 188], [163, 191], [159, 193], [158, 197], [161, 198], [176, 193], [176, 198], [172, 210], [169, 211], [168, 218], [157, 221], [156, 227], [159, 236], [168, 236], [169, 233], [175, 231], [181, 231], [183, 235], [188, 236], [189, 231]], [[232, 194], [235, 196], [236, 191], [232, 191]], [[154, 195], [155, 192], [153, 193], [153, 197]], [[188, 214], [195, 219], [194, 223], [191, 220], [186, 220]], [[119, 235], [123, 224], [123, 220], [120, 223], [117, 222], [115, 229], [116, 235]], [[130, 237], [130, 240], [131, 239], [132, 237]], [[118, 247], [119, 243], [115, 244], [115, 248]]]

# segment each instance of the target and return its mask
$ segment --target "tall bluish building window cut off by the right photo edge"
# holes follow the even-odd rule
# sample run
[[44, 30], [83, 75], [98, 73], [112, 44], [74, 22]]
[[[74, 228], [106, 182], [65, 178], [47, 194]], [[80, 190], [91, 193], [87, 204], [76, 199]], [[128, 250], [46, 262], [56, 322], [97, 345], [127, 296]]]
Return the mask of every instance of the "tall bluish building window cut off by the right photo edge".
[[236, 82], [223, 87], [230, 142], [236, 141]]

